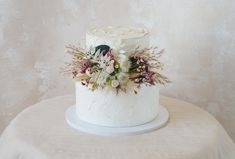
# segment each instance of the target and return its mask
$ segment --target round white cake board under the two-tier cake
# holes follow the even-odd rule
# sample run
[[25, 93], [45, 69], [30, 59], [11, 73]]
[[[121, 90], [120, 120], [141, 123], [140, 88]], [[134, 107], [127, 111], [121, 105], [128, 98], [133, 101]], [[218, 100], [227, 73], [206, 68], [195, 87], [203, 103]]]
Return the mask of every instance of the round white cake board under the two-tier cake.
[[70, 106], [65, 112], [65, 119], [68, 125], [78, 131], [101, 136], [128, 136], [150, 132], [164, 126], [168, 119], [167, 109], [160, 105], [158, 116], [142, 125], [131, 127], [106, 127], [87, 123], [78, 118], [75, 105]]

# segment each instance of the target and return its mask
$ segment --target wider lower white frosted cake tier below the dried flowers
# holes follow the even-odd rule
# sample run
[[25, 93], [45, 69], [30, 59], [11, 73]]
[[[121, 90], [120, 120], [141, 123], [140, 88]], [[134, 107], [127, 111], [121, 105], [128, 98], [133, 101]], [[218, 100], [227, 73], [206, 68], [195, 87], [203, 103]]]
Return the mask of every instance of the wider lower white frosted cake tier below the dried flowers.
[[153, 120], [159, 109], [159, 88], [143, 86], [137, 95], [96, 90], [76, 82], [76, 106], [80, 119], [110, 127], [135, 126]]

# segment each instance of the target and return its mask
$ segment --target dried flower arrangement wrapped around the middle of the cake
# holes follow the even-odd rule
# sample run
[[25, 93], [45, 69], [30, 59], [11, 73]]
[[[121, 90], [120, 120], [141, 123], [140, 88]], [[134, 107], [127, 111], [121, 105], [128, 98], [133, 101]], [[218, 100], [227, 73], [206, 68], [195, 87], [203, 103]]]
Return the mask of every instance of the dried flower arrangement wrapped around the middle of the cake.
[[157, 47], [140, 49], [132, 52], [113, 50], [108, 45], [99, 45], [85, 51], [81, 47], [66, 46], [66, 51], [72, 55], [64, 72], [72, 73], [72, 78], [81, 81], [91, 90], [99, 88], [133, 90], [137, 93], [142, 84], [152, 86], [170, 82], [160, 74], [163, 63], [160, 57], [163, 50]]

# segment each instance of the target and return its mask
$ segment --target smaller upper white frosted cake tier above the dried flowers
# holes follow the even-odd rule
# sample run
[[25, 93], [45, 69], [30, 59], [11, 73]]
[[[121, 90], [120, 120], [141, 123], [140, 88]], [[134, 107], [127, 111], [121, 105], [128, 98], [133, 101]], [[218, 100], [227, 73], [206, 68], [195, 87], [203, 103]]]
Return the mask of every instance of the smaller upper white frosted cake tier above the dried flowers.
[[116, 50], [133, 50], [137, 46], [148, 47], [149, 33], [143, 28], [134, 27], [104, 27], [92, 29], [86, 34], [86, 47], [109, 45]]

